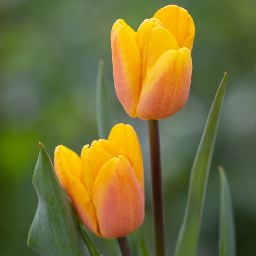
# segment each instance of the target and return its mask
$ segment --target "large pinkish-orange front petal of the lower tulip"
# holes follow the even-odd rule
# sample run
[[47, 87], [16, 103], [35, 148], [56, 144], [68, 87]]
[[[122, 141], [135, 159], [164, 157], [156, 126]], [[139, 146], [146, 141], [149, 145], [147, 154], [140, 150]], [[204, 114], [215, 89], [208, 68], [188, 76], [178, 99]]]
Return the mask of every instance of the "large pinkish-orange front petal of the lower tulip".
[[102, 167], [93, 188], [93, 203], [105, 238], [126, 236], [142, 224], [144, 201], [127, 158], [112, 158]]

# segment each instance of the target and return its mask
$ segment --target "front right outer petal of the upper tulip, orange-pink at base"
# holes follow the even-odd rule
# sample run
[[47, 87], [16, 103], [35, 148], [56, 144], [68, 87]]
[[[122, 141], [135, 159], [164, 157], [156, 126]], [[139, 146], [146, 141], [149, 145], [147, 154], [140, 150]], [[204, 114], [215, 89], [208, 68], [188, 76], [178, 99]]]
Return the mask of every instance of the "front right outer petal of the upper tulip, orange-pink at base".
[[165, 52], [147, 70], [137, 106], [141, 119], [163, 119], [172, 116], [185, 105], [192, 74], [191, 52]]

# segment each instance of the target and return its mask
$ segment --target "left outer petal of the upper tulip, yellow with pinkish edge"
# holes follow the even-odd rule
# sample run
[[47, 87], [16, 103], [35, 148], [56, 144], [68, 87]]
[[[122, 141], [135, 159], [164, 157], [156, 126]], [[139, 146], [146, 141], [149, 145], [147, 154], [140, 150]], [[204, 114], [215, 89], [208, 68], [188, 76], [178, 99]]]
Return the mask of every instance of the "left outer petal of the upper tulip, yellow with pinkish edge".
[[122, 20], [111, 31], [111, 50], [115, 90], [125, 111], [135, 117], [140, 94], [141, 61], [135, 32]]

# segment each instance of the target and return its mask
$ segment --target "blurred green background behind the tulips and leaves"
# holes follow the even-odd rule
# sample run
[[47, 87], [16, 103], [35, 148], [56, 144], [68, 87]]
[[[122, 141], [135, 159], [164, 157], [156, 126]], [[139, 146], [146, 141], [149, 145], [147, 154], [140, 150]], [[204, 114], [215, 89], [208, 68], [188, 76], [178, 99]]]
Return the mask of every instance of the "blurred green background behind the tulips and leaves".
[[[32, 176], [38, 142], [53, 159], [59, 144], [80, 154], [84, 144], [97, 139], [95, 83], [100, 58], [105, 60], [117, 120], [132, 124], [141, 142], [146, 182], [142, 230], [152, 250], [147, 122], [130, 118], [115, 95], [110, 32], [118, 18], [137, 30], [144, 19], [168, 4], [188, 10], [196, 36], [188, 102], [182, 111], [160, 121], [167, 254], [173, 255], [191, 164], [227, 71], [198, 255], [218, 254], [218, 165], [224, 166], [230, 181], [237, 254], [255, 255], [255, 0], [0, 1], [1, 255], [36, 255], [27, 247], [27, 234], [37, 207]], [[114, 240], [92, 238], [104, 255], [116, 254]], [[134, 236], [130, 239], [136, 244]]]

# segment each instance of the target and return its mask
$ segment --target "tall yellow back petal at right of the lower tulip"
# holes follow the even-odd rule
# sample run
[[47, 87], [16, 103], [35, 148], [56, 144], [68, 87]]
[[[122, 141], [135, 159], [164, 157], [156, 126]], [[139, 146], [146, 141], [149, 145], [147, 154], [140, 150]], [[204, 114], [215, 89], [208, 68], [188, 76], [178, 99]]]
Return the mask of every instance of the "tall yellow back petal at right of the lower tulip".
[[122, 148], [125, 152], [124, 156], [131, 160], [130, 163], [139, 182], [144, 198], [143, 159], [140, 150], [140, 143], [133, 127], [127, 124], [124, 125], [123, 123], [115, 125], [110, 131], [108, 140]]

